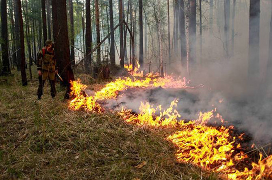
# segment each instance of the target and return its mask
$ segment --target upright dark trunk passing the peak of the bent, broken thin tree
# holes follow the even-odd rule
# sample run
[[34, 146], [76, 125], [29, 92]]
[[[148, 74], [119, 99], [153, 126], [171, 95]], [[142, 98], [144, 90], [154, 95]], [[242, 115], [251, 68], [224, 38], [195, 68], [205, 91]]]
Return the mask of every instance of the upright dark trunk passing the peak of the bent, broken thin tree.
[[[123, 0], [119, 0], [119, 22], [123, 19]], [[120, 25], [120, 66], [124, 68], [124, 36], [123, 36], [123, 25]]]

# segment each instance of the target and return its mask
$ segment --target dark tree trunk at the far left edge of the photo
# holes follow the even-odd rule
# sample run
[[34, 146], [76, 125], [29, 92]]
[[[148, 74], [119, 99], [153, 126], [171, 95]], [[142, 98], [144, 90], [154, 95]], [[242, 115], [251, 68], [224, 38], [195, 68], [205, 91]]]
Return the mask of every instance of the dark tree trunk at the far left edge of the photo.
[[[1, 0], [1, 50], [3, 62], [3, 74], [10, 74], [9, 60], [8, 60], [8, 34], [7, 34], [7, 10], [6, 0]], [[1, 74], [1, 72], [0, 72]]]

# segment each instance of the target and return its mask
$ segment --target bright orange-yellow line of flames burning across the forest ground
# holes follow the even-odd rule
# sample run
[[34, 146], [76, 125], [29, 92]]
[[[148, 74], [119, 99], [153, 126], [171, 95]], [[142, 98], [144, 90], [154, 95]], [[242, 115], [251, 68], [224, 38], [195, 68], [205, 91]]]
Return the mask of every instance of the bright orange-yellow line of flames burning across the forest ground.
[[[137, 76], [137, 75], [136, 75]], [[116, 99], [120, 91], [129, 88], [195, 88], [188, 86], [190, 81], [186, 78], [174, 78], [166, 76], [164, 78], [143, 79], [119, 78], [105, 85], [94, 96], [87, 96], [84, 90], [87, 86], [80, 80], [72, 82], [71, 95], [74, 97], [70, 101], [69, 107], [72, 110], [87, 110], [98, 113], [103, 112], [100, 100]], [[200, 85], [202, 86], [202, 85]], [[207, 123], [211, 119], [218, 119], [224, 122], [216, 109], [205, 113], [200, 112], [196, 120], [185, 121], [176, 110], [178, 99], [170, 104], [169, 108], [163, 109], [161, 105], [153, 107], [149, 102], [142, 102], [139, 113], [122, 107], [117, 112], [125, 122], [138, 126], [174, 128], [174, 134], [168, 136], [168, 140], [177, 147], [176, 157], [179, 162], [190, 162], [201, 166], [206, 170], [213, 170], [223, 174], [230, 180], [269, 180], [272, 179], [272, 156], [262, 160], [258, 164], [252, 163], [252, 169], [245, 168], [243, 172], [235, 169], [235, 166], [247, 158], [241, 150], [238, 138], [230, 134], [232, 127], [213, 127]]]

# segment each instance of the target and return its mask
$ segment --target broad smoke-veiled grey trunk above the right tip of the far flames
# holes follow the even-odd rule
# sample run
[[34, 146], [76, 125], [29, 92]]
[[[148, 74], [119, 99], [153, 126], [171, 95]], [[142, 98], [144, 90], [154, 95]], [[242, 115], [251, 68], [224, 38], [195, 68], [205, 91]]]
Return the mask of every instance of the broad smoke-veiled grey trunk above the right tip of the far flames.
[[189, 39], [190, 39], [190, 70], [196, 64], [196, 0], [190, 0], [190, 16], [189, 16]]

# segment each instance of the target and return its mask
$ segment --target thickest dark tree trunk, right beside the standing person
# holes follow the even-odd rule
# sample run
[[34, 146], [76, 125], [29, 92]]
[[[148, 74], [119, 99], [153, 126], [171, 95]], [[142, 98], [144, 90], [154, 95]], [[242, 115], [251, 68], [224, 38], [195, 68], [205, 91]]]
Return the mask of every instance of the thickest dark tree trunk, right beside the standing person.
[[[54, 8], [53, 8], [54, 6]], [[71, 60], [69, 54], [69, 37], [68, 37], [68, 25], [67, 25], [67, 14], [66, 14], [66, 0], [52, 0], [52, 15], [57, 17], [57, 32], [53, 32], [54, 36], [58, 36], [55, 41], [55, 57], [58, 63], [60, 76], [63, 79], [63, 86], [67, 86], [67, 91], [64, 96], [65, 99], [69, 98], [70, 82], [74, 81], [74, 74], [71, 68]], [[55, 11], [56, 10], [56, 11]], [[54, 20], [54, 19], [53, 19]]]

